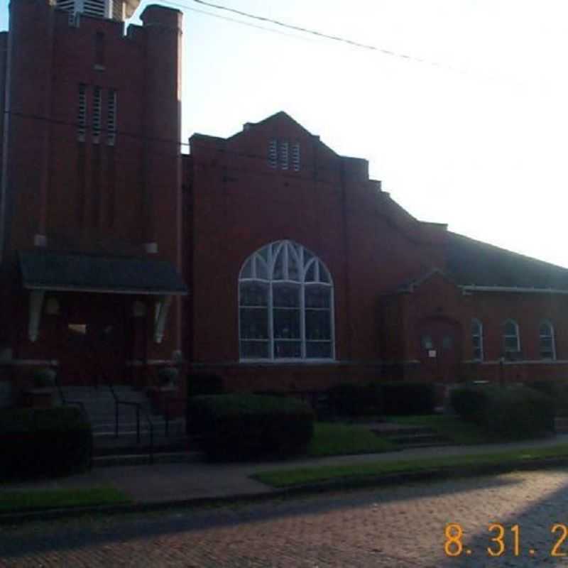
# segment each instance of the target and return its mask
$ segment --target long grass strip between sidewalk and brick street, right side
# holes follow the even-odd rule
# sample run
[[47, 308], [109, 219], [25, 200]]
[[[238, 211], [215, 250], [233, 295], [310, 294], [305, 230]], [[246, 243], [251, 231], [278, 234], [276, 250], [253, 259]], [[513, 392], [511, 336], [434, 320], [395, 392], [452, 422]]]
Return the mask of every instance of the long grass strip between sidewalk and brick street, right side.
[[255, 474], [254, 479], [276, 487], [285, 488], [326, 481], [356, 481], [386, 474], [412, 473], [431, 469], [481, 466], [492, 464], [520, 464], [536, 458], [567, 457], [568, 445], [562, 444], [545, 448], [516, 449], [492, 454], [472, 454], [466, 456], [436, 457], [405, 461], [375, 461], [349, 466], [317, 466], [298, 469], [280, 469]]

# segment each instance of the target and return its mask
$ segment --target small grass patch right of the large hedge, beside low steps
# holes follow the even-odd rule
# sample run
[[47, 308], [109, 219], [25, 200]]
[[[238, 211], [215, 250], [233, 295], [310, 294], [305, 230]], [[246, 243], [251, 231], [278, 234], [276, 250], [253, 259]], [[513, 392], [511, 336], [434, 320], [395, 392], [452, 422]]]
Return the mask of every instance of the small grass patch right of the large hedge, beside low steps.
[[364, 426], [315, 422], [314, 436], [307, 448], [312, 457], [390, 452], [396, 447]]

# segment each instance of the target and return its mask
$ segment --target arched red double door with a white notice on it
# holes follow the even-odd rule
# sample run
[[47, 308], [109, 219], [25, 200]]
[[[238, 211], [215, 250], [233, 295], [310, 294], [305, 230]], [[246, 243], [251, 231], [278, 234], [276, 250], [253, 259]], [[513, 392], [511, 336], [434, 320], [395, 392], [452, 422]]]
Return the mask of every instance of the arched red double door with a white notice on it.
[[431, 317], [418, 324], [420, 362], [425, 374], [437, 383], [457, 381], [461, 363], [461, 326], [445, 317]]

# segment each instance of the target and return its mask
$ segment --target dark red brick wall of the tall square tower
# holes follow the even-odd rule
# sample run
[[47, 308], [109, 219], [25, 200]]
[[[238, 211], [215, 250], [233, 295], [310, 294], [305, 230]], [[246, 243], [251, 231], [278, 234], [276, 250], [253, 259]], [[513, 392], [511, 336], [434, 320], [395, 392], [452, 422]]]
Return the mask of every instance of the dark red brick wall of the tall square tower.
[[[149, 6], [143, 26], [69, 15], [47, 0], [13, 0], [10, 4], [11, 114], [8, 148], [9, 239], [2, 266], [3, 296], [11, 297], [9, 343], [14, 359], [61, 359], [60, 330], [43, 317], [40, 337], [27, 337], [28, 295], [23, 292], [16, 251], [31, 249], [36, 234], [47, 248], [112, 255], [146, 254], [156, 243], [163, 258], [182, 273], [180, 155], [181, 13]], [[96, 37], [104, 36], [104, 60], [98, 60]], [[6, 35], [0, 35], [0, 53]], [[0, 82], [4, 65], [0, 56]], [[77, 140], [79, 84], [87, 85], [87, 131]], [[94, 87], [101, 87], [102, 133], [92, 137]], [[109, 90], [117, 93], [116, 143], [107, 145]], [[2, 104], [2, 99], [0, 99]], [[4, 114], [2, 114], [4, 117]], [[89, 295], [80, 302], [89, 303]], [[125, 329], [131, 328], [131, 302], [124, 301]], [[61, 295], [62, 306], [77, 295]], [[127, 301], [128, 300], [128, 301]], [[152, 325], [133, 332], [133, 343], [148, 337], [146, 352], [135, 359], [170, 359], [182, 348], [181, 302], [170, 309], [162, 344]], [[4, 312], [6, 313], [6, 312]], [[153, 305], [148, 322], [153, 318]], [[67, 322], [60, 320], [60, 326]], [[52, 333], [53, 332], [53, 333]]]

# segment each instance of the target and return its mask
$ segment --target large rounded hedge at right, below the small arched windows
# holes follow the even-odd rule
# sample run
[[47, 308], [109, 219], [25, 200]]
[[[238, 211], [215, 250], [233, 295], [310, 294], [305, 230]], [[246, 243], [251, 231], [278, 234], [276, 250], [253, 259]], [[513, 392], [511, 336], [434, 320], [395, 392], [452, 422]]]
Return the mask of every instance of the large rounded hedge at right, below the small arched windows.
[[494, 439], [523, 439], [554, 432], [555, 402], [526, 386], [466, 386], [451, 395], [454, 410]]

